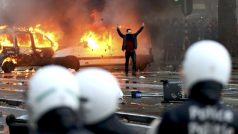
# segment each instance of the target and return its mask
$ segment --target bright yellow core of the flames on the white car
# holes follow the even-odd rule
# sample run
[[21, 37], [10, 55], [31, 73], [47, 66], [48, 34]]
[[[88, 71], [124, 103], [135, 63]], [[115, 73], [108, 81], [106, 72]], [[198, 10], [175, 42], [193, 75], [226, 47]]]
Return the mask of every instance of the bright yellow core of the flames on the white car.
[[100, 49], [105, 51], [112, 45], [113, 38], [112, 33], [105, 31], [101, 34], [97, 34], [93, 31], [88, 31], [83, 34], [80, 39], [80, 43], [86, 43], [87, 46], [92, 50]]

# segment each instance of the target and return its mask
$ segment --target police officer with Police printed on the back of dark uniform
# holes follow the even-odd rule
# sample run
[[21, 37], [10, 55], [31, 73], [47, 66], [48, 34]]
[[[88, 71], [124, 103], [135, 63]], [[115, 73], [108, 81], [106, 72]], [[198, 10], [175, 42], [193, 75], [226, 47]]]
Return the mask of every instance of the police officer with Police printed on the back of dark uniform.
[[237, 114], [220, 103], [231, 75], [228, 51], [215, 41], [197, 42], [185, 54], [183, 73], [189, 101], [164, 113], [158, 133], [237, 134]]

